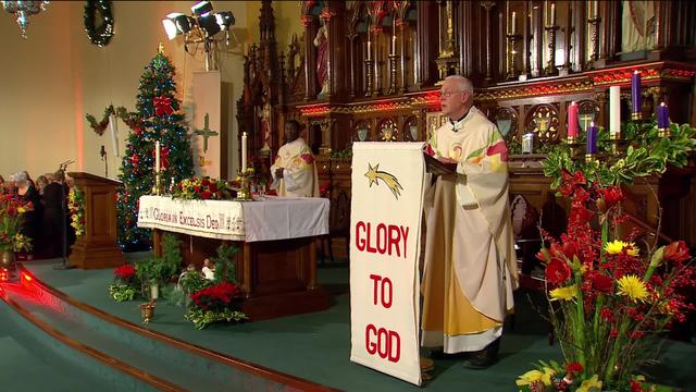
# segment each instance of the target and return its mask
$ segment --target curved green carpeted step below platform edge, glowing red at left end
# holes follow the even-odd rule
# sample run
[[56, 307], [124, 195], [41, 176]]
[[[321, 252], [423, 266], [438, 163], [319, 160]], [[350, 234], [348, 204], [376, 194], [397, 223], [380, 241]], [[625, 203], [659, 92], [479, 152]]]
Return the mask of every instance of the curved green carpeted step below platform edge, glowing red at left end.
[[53, 296], [36, 282], [5, 289], [13, 301], [33, 317], [66, 336], [142, 373], [184, 390], [228, 391], [244, 385], [266, 391], [287, 390], [286, 385], [187, 350], [136, 333]]

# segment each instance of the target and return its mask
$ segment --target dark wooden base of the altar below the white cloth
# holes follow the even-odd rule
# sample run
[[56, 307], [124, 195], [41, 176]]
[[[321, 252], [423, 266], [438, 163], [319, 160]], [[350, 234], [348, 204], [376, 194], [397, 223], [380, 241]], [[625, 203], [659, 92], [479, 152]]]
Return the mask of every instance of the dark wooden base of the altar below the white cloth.
[[[160, 230], [154, 230], [156, 249]], [[198, 269], [215, 256], [222, 241], [177, 234], [186, 264]], [[316, 238], [233, 242], [237, 281], [246, 293], [241, 311], [250, 321], [328, 309], [327, 293], [316, 284]], [[161, 252], [158, 249], [157, 252]]]

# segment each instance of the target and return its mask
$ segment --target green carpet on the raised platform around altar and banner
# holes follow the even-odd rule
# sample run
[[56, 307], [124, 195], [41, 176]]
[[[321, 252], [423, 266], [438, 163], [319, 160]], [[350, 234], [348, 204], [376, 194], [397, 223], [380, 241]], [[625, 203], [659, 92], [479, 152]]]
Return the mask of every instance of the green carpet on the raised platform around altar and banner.
[[[130, 254], [129, 258], [146, 257]], [[77, 301], [139, 323], [140, 302], [116, 303], [107, 286], [112, 270], [54, 270], [57, 260], [26, 262], [40, 280]], [[197, 331], [183, 318], [183, 308], [159, 303], [148, 328], [209, 347], [271, 369], [346, 391], [417, 391], [417, 387], [352, 364], [350, 357], [350, 307], [347, 266], [319, 269], [320, 284], [332, 293], [328, 310], [236, 326], [212, 326]], [[529, 295], [534, 299], [534, 293]], [[432, 391], [485, 389], [514, 391], [515, 378], [530, 370], [537, 359], [559, 359], [558, 346], [547, 342], [547, 327], [530, 304], [526, 293], [517, 293], [517, 320], [507, 328], [500, 360], [486, 370], [469, 370], [456, 360], [437, 360], [434, 379], [424, 384]], [[696, 382], [687, 357], [696, 354], [693, 344], [668, 342], [662, 364], [651, 369], [660, 380], [686, 388]], [[688, 387], [688, 388], [687, 388]]]

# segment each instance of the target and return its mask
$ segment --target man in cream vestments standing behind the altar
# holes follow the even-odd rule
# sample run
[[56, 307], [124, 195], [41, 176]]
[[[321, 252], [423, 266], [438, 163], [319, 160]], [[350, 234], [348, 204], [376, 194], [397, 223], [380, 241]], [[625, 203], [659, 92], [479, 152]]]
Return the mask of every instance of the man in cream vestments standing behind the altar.
[[314, 156], [300, 136], [300, 124], [290, 120], [285, 123], [285, 144], [278, 149], [271, 167], [272, 189], [278, 196], [319, 197], [319, 181]]

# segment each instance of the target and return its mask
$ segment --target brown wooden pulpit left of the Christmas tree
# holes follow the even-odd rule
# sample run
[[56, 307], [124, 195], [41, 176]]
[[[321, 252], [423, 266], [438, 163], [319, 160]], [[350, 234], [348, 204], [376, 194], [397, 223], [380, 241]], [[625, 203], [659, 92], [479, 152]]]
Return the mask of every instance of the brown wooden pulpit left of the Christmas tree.
[[67, 173], [85, 195], [85, 233], [71, 247], [70, 261], [77, 268], [98, 269], [123, 265], [116, 242], [117, 181], [83, 172]]

